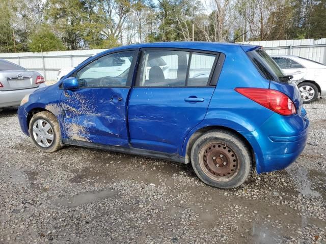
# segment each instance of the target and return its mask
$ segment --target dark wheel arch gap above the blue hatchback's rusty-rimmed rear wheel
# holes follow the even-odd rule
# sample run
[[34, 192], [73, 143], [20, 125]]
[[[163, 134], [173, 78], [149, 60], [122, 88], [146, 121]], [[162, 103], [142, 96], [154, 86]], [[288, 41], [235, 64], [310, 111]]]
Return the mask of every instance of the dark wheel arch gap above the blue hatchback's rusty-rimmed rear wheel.
[[231, 132], [237, 136], [239, 136], [239, 138], [241, 138], [241, 140], [246, 144], [246, 146], [250, 149], [251, 151], [251, 156], [253, 159], [253, 167], [256, 166], [256, 157], [255, 157], [255, 153], [254, 153], [254, 149], [252, 147], [252, 145], [250, 144], [250, 142], [247, 140], [246, 137], [244, 137], [241, 133], [239, 133], [238, 131], [231, 129], [229, 127], [225, 127], [225, 126], [218, 126], [218, 125], [214, 125], [214, 126], [205, 126], [202, 127], [200, 129], [198, 129], [197, 131], [195, 131], [194, 133], [192, 133], [192, 135], [189, 137], [189, 139], [186, 142], [186, 147], [185, 147], [185, 163], [189, 163], [190, 160], [190, 156], [191, 156], [191, 150], [193, 148], [193, 145], [195, 143], [195, 141], [202, 136], [204, 133], [211, 131], [211, 130], [224, 130], [224, 131], [228, 131]]

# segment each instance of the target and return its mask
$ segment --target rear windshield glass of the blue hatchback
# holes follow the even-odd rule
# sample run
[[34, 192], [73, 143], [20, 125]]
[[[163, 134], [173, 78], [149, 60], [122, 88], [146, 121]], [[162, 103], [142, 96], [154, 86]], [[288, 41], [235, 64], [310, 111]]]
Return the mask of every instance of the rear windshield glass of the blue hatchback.
[[263, 49], [249, 51], [247, 55], [265, 79], [284, 82], [281, 68]]

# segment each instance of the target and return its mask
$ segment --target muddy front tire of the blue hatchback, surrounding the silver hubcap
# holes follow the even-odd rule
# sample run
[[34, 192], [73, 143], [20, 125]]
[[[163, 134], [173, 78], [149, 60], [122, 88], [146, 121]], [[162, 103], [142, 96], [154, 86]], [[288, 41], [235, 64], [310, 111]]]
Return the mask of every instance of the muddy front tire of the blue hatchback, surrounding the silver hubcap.
[[[46, 123], [48, 123], [51, 126], [51, 132], [53, 134], [53, 140], [51, 144], [48, 147], [43, 147], [39, 145], [34, 138], [33, 134], [33, 125], [36, 121], [39, 119], [45, 120]], [[34, 145], [40, 149], [41, 151], [45, 151], [46, 153], [53, 153], [54, 151], [58, 151], [62, 148], [62, 143], [61, 143], [61, 133], [60, 133], [60, 128], [59, 128], [59, 123], [55, 115], [48, 111], [42, 111], [39, 113], [36, 113], [33, 115], [30, 121], [29, 125], [29, 133], [30, 137], [32, 138]]]

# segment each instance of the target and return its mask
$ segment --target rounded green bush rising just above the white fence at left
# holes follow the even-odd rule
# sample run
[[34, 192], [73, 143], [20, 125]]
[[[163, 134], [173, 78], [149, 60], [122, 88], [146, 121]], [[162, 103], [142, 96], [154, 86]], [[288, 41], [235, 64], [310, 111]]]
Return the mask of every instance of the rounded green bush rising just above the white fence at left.
[[49, 26], [42, 26], [39, 31], [31, 36], [29, 49], [32, 52], [63, 51], [66, 50], [63, 42], [49, 30]]

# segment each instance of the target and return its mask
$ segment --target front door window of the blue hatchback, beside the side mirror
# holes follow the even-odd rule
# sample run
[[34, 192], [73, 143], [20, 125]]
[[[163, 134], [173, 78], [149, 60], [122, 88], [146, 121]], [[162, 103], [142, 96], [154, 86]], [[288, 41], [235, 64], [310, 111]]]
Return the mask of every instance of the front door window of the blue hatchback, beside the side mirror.
[[135, 52], [107, 54], [80, 69], [76, 78], [80, 87], [127, 86], [130, 66]]

